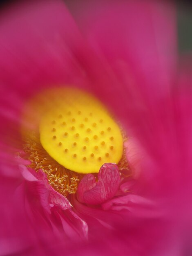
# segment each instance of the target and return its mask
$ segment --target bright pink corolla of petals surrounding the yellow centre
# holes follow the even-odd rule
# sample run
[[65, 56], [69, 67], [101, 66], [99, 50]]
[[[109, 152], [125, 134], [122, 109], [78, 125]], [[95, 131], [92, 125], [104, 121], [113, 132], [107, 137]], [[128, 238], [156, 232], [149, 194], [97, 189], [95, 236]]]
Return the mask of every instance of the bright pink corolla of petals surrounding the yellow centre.
[[[1, 13], [0, 254], [190, 254], [191, 64], [177, 71], [174, 6], [68, 5], [20, 2]], [[28, 111], [31, 98], [66, 85], [118, 117], [129, 168], [107, 162], [98, 175], [76, 173], [77, 192], [65, 195], [66, 180], [31, 168], [21, 128], [36, 127], [22, 116], [40, 115], [43, 104]]]

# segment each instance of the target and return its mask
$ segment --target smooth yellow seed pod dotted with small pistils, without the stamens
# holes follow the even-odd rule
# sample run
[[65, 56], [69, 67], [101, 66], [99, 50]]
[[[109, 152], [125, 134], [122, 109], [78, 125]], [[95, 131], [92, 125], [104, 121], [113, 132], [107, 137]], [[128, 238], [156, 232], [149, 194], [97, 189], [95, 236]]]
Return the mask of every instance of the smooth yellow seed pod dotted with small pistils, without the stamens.
[[77, 173], [98, 173], [123, 154], [121, 130], [100, 101], [80, 90], [59, 90], [40, 118], [40, 142], [60, 165]]

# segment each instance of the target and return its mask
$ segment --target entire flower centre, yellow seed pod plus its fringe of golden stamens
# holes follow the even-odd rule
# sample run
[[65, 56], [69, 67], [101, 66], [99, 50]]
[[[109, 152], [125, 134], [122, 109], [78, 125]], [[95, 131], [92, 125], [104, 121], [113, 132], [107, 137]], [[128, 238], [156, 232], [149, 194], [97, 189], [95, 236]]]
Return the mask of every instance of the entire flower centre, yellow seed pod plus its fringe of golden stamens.
[[53, 88], [37, 94], [23, 109], [21, 133], [28, 167], [46, 173], [59, 193], [76, 193], [83, 176], [97, 177], [106, 162], [118, 164], [127, 175], [126, 136], [92, 95]]

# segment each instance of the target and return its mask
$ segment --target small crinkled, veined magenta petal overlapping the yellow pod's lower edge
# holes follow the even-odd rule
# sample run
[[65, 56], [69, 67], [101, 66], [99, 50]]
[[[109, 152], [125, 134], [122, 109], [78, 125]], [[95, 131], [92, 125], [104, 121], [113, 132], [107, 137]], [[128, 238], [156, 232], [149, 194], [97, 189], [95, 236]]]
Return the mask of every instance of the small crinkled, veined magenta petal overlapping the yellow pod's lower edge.
[[87, 174], [80, 181], [77, 198], [86, 204], [101, 204], [112, 198], [119, 187], [120, 174], [116, 164], [107, 163], [101, 166], [98, 182], [93, 174]]

